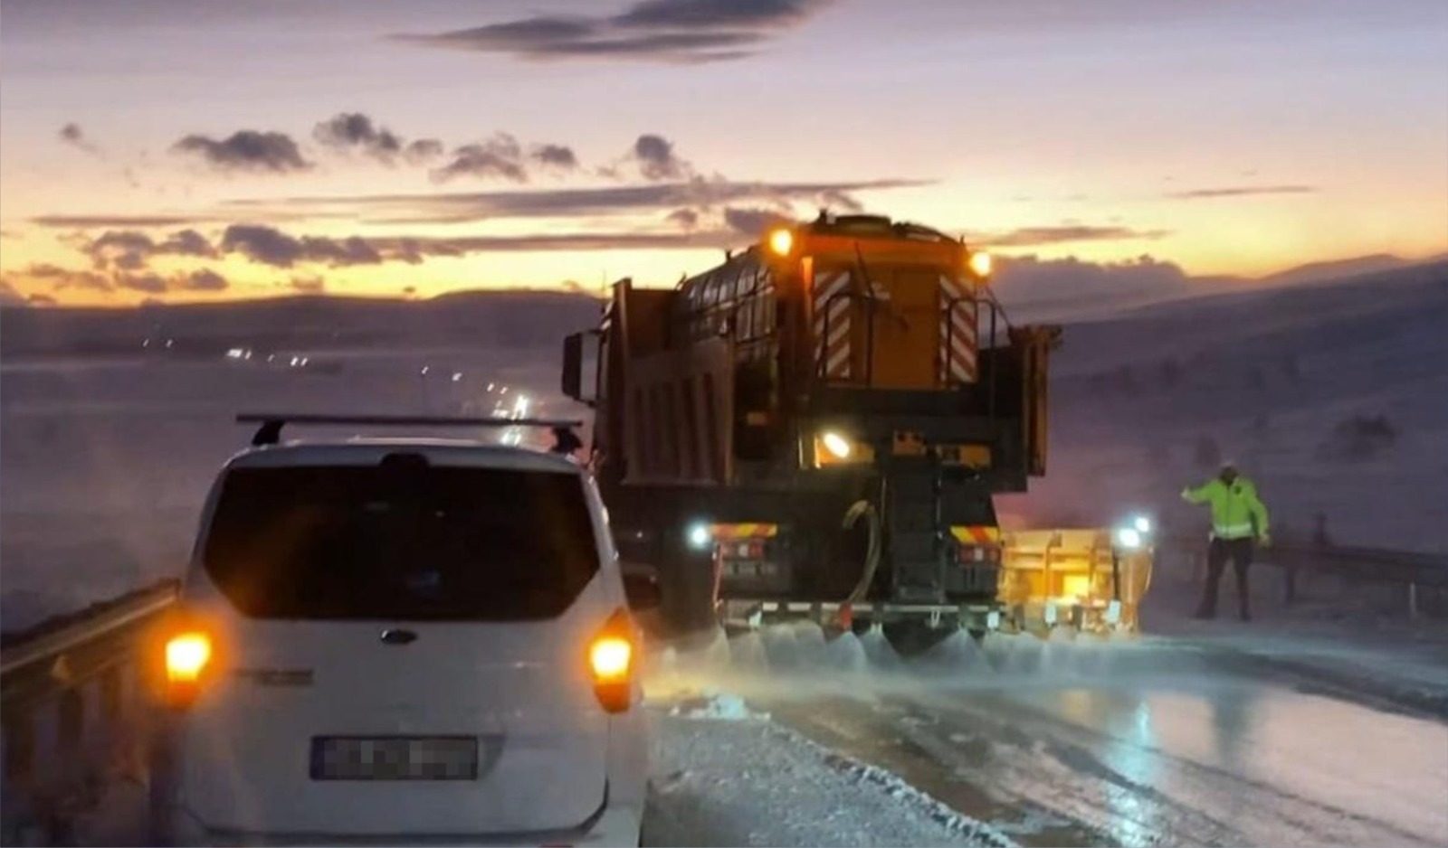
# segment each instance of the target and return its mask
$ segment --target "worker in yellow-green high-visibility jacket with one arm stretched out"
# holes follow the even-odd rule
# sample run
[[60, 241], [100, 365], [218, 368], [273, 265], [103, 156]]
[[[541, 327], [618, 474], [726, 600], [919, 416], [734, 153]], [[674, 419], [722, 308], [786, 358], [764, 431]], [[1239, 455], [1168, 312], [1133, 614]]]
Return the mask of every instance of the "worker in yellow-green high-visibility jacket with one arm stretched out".
[[1235, 463], [1224, 463], [1216, 478], [1196, 489], [1182, 489], [1187, 504], [1212, 505], [1212, 541], [1206, 551], [1206, 589], [1196, 609], [1197, 618], [1216, 616], [1216, 588], [1222, 582], [1226, 560], [1237, 572], [1237, 598], [1242, 621], [1251, 621], [1247, 593], [1247, 569], [1253, 564], [1253, 547], [1271, 544], [1267, 506], [1257, 496], [1257, 486], [1238, 473]]

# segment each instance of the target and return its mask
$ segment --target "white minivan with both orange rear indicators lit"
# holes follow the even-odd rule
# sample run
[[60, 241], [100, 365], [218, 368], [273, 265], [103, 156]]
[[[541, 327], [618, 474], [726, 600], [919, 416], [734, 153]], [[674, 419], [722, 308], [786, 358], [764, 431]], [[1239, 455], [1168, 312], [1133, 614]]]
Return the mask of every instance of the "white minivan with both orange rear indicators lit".
[[637, 845], [640, 634], [592, 476], [476, 441], [281, 443], [207, 499], [152, 836]]

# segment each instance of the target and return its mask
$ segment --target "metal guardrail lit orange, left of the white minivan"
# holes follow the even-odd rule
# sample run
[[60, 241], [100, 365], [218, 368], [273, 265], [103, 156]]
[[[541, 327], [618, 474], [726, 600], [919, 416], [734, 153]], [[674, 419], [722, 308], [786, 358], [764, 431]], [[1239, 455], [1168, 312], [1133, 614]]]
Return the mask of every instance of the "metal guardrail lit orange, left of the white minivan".
[[139, 640], [175, 603], [167, 580], [0, 644], [0, 844], [67, 844], [117, 777], [140, 779], [149, 721]]

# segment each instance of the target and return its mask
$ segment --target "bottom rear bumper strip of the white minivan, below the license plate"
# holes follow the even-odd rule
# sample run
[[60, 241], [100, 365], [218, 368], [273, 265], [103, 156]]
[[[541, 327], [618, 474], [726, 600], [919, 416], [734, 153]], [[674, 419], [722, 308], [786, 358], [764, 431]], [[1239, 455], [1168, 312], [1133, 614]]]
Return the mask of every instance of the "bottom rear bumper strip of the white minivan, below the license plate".
[[643, 810], [610, 805], [608, 789], [598, 809], [573, 828], [511, 834], [295, 834], [220, 831], [207, 828], [188, 809], [161, 813], [152, 834], [153, 845], [639, 845]]

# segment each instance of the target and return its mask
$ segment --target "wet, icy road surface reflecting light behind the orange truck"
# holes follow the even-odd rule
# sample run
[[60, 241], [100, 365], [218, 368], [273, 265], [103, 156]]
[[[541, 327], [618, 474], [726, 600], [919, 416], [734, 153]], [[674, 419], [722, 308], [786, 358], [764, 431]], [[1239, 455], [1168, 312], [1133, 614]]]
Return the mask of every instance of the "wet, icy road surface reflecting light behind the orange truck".
[[1448, 844], [1448, 725], [1371, 693], [1180, 641], [879, 651], [776, 628], [691, 673], [1024, 845]]

